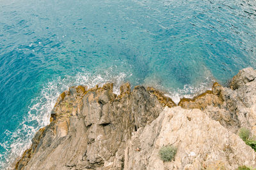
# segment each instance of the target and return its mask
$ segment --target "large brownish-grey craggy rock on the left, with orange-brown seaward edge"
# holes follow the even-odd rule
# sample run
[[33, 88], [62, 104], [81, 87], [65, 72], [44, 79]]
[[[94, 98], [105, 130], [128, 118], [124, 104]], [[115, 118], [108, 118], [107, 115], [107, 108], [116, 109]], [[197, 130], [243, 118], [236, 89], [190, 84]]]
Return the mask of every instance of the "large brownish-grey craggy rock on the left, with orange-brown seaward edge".
[[163, 110], [157, 97], [142, 86], [131, 92], [125, 83], [117, 97], [111, 83], [85, 89], [71, 87], [61, 94], [51, 124], [36, 134], [17, 169], [122, 169], [132, 132]]

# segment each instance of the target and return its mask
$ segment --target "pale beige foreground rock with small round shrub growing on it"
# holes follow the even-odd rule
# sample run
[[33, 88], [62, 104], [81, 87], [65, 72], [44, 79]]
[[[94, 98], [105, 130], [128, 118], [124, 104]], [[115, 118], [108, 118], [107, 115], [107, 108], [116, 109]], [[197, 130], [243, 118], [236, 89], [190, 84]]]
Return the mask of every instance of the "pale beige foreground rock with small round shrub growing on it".
[[[162, 146], [177, 147], [172, 162], [159, 159]], [[140, 148], [140, 152], [136, 150]], [[165, 108], [134, 133], [125, 149], [125, 169], [236, 169], [256, 166], [256, 154], [236, 134], [198, 109]]]

